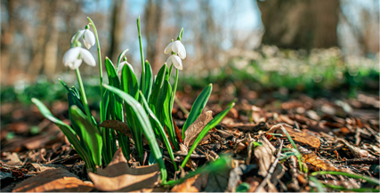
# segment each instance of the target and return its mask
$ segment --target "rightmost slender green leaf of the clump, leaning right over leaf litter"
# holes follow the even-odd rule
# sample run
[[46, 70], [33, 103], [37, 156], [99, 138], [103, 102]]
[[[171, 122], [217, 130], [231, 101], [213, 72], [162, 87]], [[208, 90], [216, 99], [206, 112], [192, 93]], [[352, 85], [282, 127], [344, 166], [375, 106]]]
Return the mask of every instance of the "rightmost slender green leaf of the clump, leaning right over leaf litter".
[[224, 109], [221, 113], [219, 113], [217, 116], [214, 117], [213, 120], [211, 120], [206, 126], [205, 128], [203, 128], [202, 132], [200, 132], [198, 134], [198, 137], [197, 139], [194, 141], [194, 143], [192, 144], [190, 150], [189, 150], [189, 154], [184, 158], [183, 162], [182, 162], [182, 168], [185, 167], [186, 163], [189, 161], [189, 158], [190, 158], [190, 155], [191, 153], [194, 151], [194, 149], [197, 148], [198, 144], [200, 141], [202, 141], [202, 139], [206, 136], [206, 134], [212, 129], [214, 128], [214, 126], [218, 125], [219, 122], [222, 121], [222, 118], [225, 117], [227, 115], [227, 113], [230, 111], [230, 109], [233, 108], [233, 106], [235, 106], [235, 103], [232, 103], [230, 104], [230, 107], [228, 107], [227, 109]]

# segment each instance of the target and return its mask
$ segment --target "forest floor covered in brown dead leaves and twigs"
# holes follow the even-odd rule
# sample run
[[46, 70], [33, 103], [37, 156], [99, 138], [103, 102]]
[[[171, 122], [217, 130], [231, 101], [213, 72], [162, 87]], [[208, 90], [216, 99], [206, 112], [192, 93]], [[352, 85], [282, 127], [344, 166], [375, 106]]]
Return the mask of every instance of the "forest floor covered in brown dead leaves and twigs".
[[[132, 158], [126, 164], [119, 151], [103, 173], [89, 176], [61, 130], [36, 106], [2, 103], [6, 125], [1, 130], [1, 191], [379, 191], [378, 95], [311, 98], [286, 89], [240, 95], [182, 172], [175, 172], [166, 159], [169, 180], [213, 165], [209, 163], [214, 160], [227, 160], [226, 164], [218, 170], [208, 167], [174, 187], [159, 187], [158, 172], [141, 167], [148, 161], [141, 165]], [[285, 97], [273, 97], [278, 95]], [[183, 92], [177, 97], [182, 109], [175, 104], [173, 117], [181, 131], [183, 109], [190, 110], [195, 97]], [[214, 116], [233, 99], [214, 93], [204, 112], [211, 110]], [[69, 124], [67, 102], [54, 101], [50, 109]], [[180, 152], [176, 156], [182, 159]], [[124, 167], [135, 173], [121, 172]]]

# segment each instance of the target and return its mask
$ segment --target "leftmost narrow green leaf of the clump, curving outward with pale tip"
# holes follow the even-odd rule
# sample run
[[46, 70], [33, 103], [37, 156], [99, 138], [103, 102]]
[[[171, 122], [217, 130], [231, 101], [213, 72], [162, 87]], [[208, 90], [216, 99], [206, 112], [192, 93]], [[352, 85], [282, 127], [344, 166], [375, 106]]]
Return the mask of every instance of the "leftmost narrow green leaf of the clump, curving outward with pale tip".
[[86, 166], [88, 166], [87, 168], [93, 168], [93, 162], [91, 162], [92, 159], [88, 157], [84, 147], [81, 146], [80, 141], [77, 138], [77, 133], [75, 133], [74, 130], [69, 125], [63, 123], [60, 119], [53, 117], [50, 110], [47, 109], [46, 106], [44, 106], [44, 103], [42, 103], [42, 101], [39, 101], [36, 98], [32, 98], [32, 102], [36, 104], [37, 108], [40, 110], [40, 112], [45, 118], [49, 119], [55, 125], [60, 127], [62, 133], [65, 134], [69, 142], [77, 150], [77, 153], [79, 154], [79, 156], [85, 160], [85, 164]]

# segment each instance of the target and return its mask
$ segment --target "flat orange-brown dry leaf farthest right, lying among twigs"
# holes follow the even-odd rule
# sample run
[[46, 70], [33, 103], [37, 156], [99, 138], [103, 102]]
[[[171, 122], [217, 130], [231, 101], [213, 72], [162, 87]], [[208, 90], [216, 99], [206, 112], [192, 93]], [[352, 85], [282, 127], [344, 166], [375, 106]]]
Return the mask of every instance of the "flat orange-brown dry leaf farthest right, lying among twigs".
[[[283, 124], [283, 126], [287, 130], [287, 133], [289, 133], [290, 137], [292, 137], [292, 139], [294, 141], [302, 142], [304, 144], [310, 145], [313, 148], [317, 148], [317, 149], [319, 148], [320, 141], [317, 137], [312, 136], [309, 133], [297, 132], [289, 125]], [[279, 130], [280, 133], [282, 133], [283, 137], [287, 137], [287, 135], [285, 135], [285, 133], [282, 132], [281, 125], [272, 126], [271, 129], [269, 131], [267, 131], [266, 133], [276, 133], [277, 130]]]

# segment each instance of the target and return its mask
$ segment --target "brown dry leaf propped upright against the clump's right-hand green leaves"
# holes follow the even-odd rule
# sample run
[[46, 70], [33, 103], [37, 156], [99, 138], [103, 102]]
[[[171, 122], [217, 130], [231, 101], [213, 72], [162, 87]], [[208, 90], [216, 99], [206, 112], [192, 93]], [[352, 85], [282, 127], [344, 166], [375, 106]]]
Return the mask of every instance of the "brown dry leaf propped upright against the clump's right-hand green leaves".
[[208, 110], [202, 113], [197, 120], [192, 123], [185, 132], [185, 141], [183, 142], [187, 147], [192, 145], [192, 143], [197, 139], [198, 134], [202, 132], [203, 128], [213, 120], [213, 111]]

